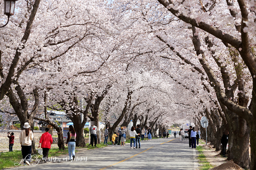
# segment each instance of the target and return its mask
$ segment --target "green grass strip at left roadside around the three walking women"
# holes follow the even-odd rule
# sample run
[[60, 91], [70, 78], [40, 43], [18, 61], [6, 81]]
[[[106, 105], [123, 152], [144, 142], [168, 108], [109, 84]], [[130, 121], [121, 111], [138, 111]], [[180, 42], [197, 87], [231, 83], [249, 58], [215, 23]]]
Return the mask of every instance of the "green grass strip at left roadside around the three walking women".
[[[75, 152], [77, 152], [77, 150]], [[63, 155], [63, 154], [68, 154], [68, 148], [66, 148], [66, 150], [64, 151], [59, 149], [50, 149], [48, 158]], [[37, 156], [39, 156], [39, 154], [33, 155], [32, 158], [36, 158]], [[41, 158], [42, 156], [38, 157], [38, 159], [41, 159]], [[21, 160], [22, 160], [21, 151], [2, 152], [0, 155], [0, 169], [12, 167], [12, 166], [18, 165], [19, 163], [20, 165], [23, 165], [23, 162], [21, 162]], [[33, 162], [35, 161], [32, 161], [32, 163]]]

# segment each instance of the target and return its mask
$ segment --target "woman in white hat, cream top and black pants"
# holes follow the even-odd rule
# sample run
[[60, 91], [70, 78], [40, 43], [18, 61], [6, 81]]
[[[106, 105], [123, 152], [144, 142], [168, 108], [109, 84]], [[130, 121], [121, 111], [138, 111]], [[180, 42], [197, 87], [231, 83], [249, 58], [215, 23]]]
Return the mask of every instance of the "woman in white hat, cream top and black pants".
[[23, 130], [20, 133], [20, 144], [24, 165], [30, 165], [32, 140], [34, 138], [33, 132], [29, 128], [29, 123], [24, 123]]

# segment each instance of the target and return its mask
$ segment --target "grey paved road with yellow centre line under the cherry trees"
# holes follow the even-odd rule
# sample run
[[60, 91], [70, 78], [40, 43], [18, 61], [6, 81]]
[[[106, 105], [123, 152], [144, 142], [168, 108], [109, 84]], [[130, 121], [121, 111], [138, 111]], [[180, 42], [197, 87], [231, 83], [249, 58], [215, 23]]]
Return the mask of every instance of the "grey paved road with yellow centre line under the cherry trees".
[[[62, 155], [57, 157], [56, 162], [39, 163], [36, 166], [18, 166], [12, 169], [194, 170], [198, 167], [195, 159], [196, 151], [189, 149], [188, 140], [181, 142], [174, 137], [141, 142], [140, 149], [131, 149], [130, 144], [126, 144], [126, 147], [108, 146], [95, 150], [78, 150], [76, 158], [82, 157], [82, 161], [63, 161], [66, 156]], [[58, 161], [59, 158], [61, 161]]]

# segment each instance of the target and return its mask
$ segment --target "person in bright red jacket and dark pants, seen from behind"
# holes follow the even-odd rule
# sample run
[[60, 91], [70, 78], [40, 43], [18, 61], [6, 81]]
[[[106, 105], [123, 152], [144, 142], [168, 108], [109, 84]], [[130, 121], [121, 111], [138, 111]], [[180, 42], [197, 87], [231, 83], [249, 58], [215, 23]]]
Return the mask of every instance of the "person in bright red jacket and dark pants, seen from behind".
[[50, 129], [48, 127], [45, 128], [45, 132], [42, 134], [40, 141], [39, 141], [39, 145], [37, 147], [37, 148], [39, 148], [41, 146], [41, 148], [43, 149], [42, 160], [44, 160], [44, 163], [46, 163], [46, 161], [47, 161], [49, 149], [51, 149], [51, 144], [53, 142], [51, 134], [48, 133], [49, 130]]

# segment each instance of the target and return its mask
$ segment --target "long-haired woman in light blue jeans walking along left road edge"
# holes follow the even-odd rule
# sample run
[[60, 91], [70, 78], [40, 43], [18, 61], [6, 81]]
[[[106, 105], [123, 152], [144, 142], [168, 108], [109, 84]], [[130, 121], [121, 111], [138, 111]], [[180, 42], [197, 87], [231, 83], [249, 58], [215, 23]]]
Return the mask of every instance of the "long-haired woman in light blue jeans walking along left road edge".
[[[68, 146], [68, 155], [69, 155], [69, 160], [75, 160], [75, 148], [76, 148], [76, 131], [72, 125], [68, 126], [68, 138], [66, 142], [66, 146]], [[91, 128], [91, 127], [90, 127]], [[71, 158], [72, 157], [72, 158]]]

